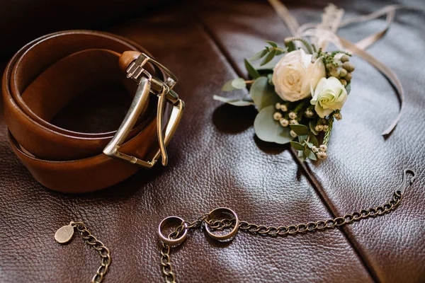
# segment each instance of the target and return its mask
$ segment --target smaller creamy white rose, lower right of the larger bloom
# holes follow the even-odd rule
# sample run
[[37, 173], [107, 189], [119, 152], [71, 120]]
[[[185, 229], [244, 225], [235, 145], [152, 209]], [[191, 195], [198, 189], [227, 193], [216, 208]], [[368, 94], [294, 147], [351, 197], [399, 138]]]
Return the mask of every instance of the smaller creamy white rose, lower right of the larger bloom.
[[317, 83], [314, 89], [314, 96], [310, 103], [314, 106], [319, 117], [326, 117], [327, 115], [342, 108], [342, 105], [347, 100], [347, 91], [339, 79], [334, 76], [328, 79], [322, 78]]

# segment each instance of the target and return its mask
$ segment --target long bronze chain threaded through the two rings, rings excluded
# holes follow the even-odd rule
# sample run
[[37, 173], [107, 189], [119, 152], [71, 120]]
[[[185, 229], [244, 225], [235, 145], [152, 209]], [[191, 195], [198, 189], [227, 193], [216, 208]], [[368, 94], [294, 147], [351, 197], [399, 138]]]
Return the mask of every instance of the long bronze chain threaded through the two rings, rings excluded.
[[[370, 209], [360, 209], [357, 212], [346, 214], [342, 217], [336, 217], [334, 219], [328, 219], [325, 221], [321, 220], [316, 222], [308, 222], [305, 224], [297, 224], [297, 225], [290, 225], [290, 226], [265, 226], [265, 225], [259, 225], [259, 224], [251, 224], [246, 221], [240, 221], [239, 229], [242, 229], [242, 231], [246, 231], [249, 233], [268, 235], [268, 236], [286, 236], [286, 235], [293, 235], [296, 233], [306, 233], [306, 232], [312, 232], [312, 231], [318, 231], [318, 230], [324, 230], [324, 229], [332, 229], [335, 226], [343, 226], [346, 224], [351, 224], [353, 223], [353, 221], [360, 221], [361, 219], [367, 219], [369, 217], [374, 217], [374, 216], [381, 216], [388, 212], [391, 212], [393, 209], [395, 209], [395, 207], [399, 205], [399, 203], [402, 201], [402, 198], [403, 198], [403, 192], [400, 190], [396, 190], [394, 195], [392, 196], [392, 200], [390, 200], [386, 204], [380, 205], [375, 208], [370, 208]], [[200, 228], [203, 222], [205, 222], [205, 224], [208, 225], [210, 229], [219, 230], [219, 231], [230, 228], [230, 227], [234, 227], [234, 225], [237, 222], [237, 219], [235, 218], [222, 219], [222, 220], [208, 220], [207, 217], [208, 217], [208, 214], [201, 216], [200, 218], [198, 218], [196, 221], [193, 221], [193, 222], [188, 222], [188, 221], [181, 222], [180, 226], [178, 226], [175, 231], [169, 234], [168, 236], [169, 239], [178, 238], [185, 229]], [[174, 273], [171, 267], [170, 250], [171, 250], [171, 246], [167, 245], [166, 243], [162, 243], [162, 250], [161, 250], [162, 273], [164, 275], [166, 283], [175, 283], [176, 278], [174, 276]]]

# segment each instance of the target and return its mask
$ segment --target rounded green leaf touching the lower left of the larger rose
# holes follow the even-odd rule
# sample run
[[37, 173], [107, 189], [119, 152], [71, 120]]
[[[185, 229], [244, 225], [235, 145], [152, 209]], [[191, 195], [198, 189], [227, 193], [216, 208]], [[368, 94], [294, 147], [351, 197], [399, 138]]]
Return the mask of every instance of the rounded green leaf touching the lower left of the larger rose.
[[268, 83], [268, 78], [265, 76], [260, 76], [254, 81], [254, 83], [252, 83], [252, 86], [249, 89], [249, 95], [251, 96], [252, 100], [254, 100], [254, 103], [259, 111], [268, 105], [273, 105], [274, 107], [276, 103], [281, 101], [279, 96], [274, 91], [273, 86]]

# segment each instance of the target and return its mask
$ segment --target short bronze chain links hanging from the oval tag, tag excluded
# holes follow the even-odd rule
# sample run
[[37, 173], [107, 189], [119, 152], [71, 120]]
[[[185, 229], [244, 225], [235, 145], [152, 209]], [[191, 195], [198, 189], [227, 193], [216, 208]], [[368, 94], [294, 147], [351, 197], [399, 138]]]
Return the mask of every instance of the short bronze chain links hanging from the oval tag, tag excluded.
[[101, 255], [101, 266], [96, 271], [96, 275], [91, 279], [91, 283], [101, 283], [106, 272], [108, 272], [109, 265], [111, 265], [111, 252], [101, 241], [98, 241], [95, 236], [91, 235], [83, 222], [72, 222], [72, 226], [80, 232], [81, 238]]

